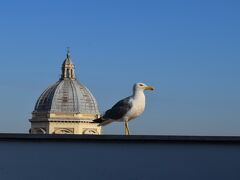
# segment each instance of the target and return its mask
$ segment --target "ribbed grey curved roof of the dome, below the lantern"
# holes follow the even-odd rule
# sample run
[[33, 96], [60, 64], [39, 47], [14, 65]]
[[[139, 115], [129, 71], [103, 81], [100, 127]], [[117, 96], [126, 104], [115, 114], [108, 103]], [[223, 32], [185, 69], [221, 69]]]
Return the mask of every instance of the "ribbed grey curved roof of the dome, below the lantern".
[[71, 79], [60, 80], [48, 87], [39, 97], [34, 112], [99, 114], [91, 92]]

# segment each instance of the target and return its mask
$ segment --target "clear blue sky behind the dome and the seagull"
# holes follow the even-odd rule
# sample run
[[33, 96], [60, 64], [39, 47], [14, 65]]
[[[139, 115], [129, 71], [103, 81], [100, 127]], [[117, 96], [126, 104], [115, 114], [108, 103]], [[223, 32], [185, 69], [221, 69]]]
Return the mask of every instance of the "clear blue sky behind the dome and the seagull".
[[135, 82], [156, 87], [133, 134], [240, 135], [239, 9], [238, 0], [1, 1], [0, 132], [28, 132], [70, 46], [102, 112]]

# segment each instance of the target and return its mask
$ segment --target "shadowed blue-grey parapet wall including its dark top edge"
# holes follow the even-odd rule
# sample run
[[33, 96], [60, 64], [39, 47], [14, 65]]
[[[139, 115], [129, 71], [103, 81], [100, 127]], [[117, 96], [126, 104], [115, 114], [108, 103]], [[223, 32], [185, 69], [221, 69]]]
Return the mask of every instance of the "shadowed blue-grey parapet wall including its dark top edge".
[[0, 180], [236, 180], [240, 137], [0, 134]]

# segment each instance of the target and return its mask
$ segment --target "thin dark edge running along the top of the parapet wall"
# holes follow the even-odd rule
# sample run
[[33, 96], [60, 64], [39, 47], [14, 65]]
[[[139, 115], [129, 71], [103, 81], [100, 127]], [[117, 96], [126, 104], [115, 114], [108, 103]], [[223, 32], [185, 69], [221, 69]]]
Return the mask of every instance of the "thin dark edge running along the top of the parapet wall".
[[41, 135], [0, 133], [0, 141], [32, 142], [139, 142], [139, 143], [234, 143], [240, 136], [178, 136], [178, 135]]

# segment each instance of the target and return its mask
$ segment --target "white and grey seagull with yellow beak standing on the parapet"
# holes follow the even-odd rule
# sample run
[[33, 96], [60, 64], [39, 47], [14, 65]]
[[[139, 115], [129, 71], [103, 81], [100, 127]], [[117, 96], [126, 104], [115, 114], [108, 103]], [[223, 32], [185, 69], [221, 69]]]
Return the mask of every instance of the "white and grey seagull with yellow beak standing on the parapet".
[[133, 86], [132, 96], [117, 102], [111, 109], [107, 110], [102, 117], [93, 120], [99, 126], [105, 126], [111, 122], [124, 122], [125, 135], [130, 135], [128, 122], [140, 116], [145, 109], [145, 90], [154, 90], [154, 87], [144, 83], [136, 83]]

